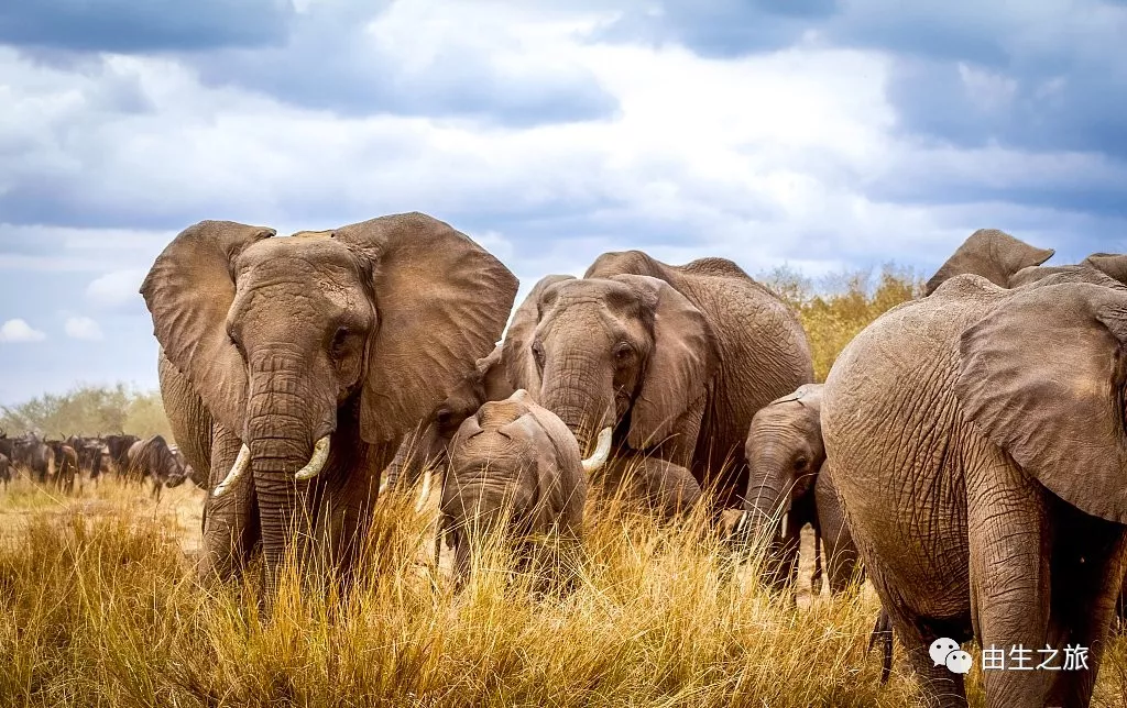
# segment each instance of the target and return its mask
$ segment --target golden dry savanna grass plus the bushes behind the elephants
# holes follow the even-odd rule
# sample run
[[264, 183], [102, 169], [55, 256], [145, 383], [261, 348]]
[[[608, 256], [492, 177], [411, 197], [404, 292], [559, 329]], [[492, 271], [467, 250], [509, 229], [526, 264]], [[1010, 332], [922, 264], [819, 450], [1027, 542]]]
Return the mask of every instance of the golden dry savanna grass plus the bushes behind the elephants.
[[[816, 296], [777, 276], [766, 281], [802, 312], [819, 379], [864, 323], [919, 287], [886, 272], [876, 286], [854, 278]], [[65, 432], [108, 431], [74, 412], [76, 401], [98, 397], [92, 391], [9, 410], [0, 427], [18, 430], [16, 415], [42, 424], [35, 413], [69, 420]], [[150, 413], [143, 424], [160, 431], [166, 423], [140, 405]], [[879, 656], [867, 655], [878, 611], [870, 588], [831, 599], [800, 584], [795, 604], [761, 586], [761, 556], [733, 575], [700, 520], [662, 527], [592, 501], [573, 592], [538, 599], [526, 579], [483, 561], [455, 593], [429, 557], [436, 499], [417, 514], [411, 495], [388, 494], [353, 591], [285, 583], [264, 621], [256, 572], [227, 586], [195, 580], [203, 496], [187, 483], [156, 503], [147, 487], [112, 477], [83, 480], [73, 498], [26, 478], [0, 492], [0, 705], [917, 702], [899, 646], [886, 685]], [[1094, 705], [1127, 707], [1127, 642], [1113, 640], [1109, 654]], [[970, 674], [971, 705], [983, 705], [980, 673]]]

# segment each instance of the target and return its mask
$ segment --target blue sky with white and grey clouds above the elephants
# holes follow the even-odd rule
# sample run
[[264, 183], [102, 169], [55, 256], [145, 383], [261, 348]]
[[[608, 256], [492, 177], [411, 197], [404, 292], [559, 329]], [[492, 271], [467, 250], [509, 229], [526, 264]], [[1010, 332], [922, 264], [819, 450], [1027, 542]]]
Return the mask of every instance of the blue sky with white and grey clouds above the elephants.
[[186, 226], [420, 210], [521, 294], [604, 251], [929, 277], [1127, 251], [1127, 2], [0, 3], [0, 404], [157, 386]]

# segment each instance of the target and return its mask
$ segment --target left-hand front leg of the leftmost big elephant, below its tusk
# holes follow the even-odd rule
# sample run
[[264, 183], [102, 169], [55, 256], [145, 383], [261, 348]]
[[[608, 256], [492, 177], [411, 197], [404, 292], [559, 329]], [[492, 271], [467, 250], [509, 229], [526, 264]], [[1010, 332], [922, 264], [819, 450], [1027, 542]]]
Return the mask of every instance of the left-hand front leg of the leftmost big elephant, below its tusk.
[[234, 465], [242, 442], [227, 430], [215, 427], [212, 445], [211, 480], [204, 501], [203, 553], [197, 571], [201, 579], [225, 581], [246, 567], [250, 552], [259, 538], [258, 512], [251, 475], [243, 475], [219, 499], [211, 491], [227, 477]]

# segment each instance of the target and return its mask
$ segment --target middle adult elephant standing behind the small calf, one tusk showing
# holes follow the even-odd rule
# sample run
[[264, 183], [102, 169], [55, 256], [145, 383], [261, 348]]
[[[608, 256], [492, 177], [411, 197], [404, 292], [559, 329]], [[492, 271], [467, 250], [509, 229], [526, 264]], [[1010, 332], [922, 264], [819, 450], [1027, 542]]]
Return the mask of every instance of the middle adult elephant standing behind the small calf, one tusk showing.
[[673, 484], [687, 469], [724, 507], [746, 487], [752, 415], [814, 380], [797, 313], [738, 266], [669, 266], [640, 251], [541, 281], [513, 316], [503, 359], [582, 450], [613, 430], [609, 473], [657, 466]]

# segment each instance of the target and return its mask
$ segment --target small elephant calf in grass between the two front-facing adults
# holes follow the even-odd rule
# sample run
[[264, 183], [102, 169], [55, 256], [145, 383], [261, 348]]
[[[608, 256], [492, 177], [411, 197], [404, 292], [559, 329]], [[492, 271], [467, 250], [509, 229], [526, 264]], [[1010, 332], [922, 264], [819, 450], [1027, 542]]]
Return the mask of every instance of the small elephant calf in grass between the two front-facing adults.
[[540, 544], [551, 538], [550, 546], [573, 553], [583, 540], [586, 498], [579, 445], [558, 416], [523, 389], [483, 404], [458, 429], [443, 484], [440, 538], [451, 540], [459, 581], [490, 530]]

